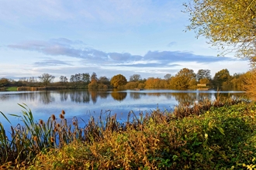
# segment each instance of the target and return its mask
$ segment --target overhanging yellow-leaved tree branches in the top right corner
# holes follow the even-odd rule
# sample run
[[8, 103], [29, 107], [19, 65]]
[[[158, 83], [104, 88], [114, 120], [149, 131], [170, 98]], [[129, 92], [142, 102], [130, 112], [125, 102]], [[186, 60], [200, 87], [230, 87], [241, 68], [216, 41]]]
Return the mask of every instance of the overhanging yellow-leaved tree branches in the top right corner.
[[255, 0], [189, 0], [185, 3], [190, 25], [197, 36], [204, 36], [223, 54], [256, 60]]

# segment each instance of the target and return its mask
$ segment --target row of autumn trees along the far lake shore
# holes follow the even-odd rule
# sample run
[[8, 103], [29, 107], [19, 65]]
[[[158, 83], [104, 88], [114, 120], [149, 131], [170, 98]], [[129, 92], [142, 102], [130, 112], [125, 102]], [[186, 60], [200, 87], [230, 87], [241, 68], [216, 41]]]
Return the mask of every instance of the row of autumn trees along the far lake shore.
[[166, 74], [164, 78], [148, 77], [142, 79], [140, 74], [133, 74], [127, 80], [122, 74], [107, 78], [93, 72], [76, 73], [71, 75], [69, 80], [66, 76], [60, 76], [59, 80], [54, 82], [55, 76], [49, 73], [43, 73], [38, 77], [20, 78], [18, 81], [7, 78], [0, 79], [0, 87], [72, 87], [72, 88], [88, 88], [88, 89], [219, 89], [219, 90], [246, 90], [247, 84], [251, 79], [251, 71], [247, 73], [234, 73], [230, 75], [229, 70], [223, 69], [211, 75], [210, 70], [194, 70], [183, 68], [175, 75]]

